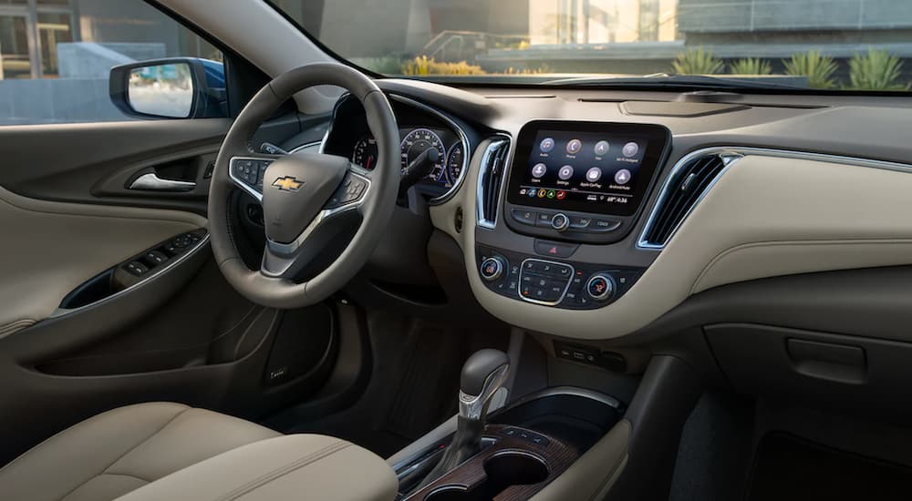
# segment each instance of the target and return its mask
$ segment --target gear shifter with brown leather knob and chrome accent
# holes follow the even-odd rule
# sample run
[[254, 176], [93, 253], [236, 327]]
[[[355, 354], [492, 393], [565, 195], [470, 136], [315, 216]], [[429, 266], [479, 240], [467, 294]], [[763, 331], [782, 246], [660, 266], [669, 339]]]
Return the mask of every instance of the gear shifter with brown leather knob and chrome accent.
[[499, 350], [475, 352], [462, 365], [456, 434], [440, 463], [425, 477], [427, 486], [482, 450], [482, 433], [492, 396], [506, 382], [510, 357]]

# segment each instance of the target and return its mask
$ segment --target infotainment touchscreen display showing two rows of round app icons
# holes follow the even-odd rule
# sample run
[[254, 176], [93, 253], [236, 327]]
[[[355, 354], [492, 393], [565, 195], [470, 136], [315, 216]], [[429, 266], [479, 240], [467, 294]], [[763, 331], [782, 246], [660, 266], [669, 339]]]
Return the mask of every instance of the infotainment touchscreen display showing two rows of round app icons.
[[668, 129], [536, 121], [517, 140], [507, 200], [551, 210], [634, 214], [658, 168]]

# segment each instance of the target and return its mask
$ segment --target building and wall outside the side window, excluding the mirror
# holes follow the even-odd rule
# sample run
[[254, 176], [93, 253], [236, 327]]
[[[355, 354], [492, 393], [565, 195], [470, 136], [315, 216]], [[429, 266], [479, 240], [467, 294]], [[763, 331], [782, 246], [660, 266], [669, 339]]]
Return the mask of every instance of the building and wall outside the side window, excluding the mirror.
[[143, 0], [0, 0], [0, 125], [131, 119], [111, 66], [222, 53]]

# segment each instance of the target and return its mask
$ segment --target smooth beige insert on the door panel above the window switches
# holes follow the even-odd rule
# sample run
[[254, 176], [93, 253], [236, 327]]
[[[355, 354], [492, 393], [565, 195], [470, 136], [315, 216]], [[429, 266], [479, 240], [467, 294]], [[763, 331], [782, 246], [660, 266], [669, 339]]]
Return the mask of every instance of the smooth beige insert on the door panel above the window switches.
[[30, 199], [0, 188], [0, 335], [47, 318], [98, 272], [206, 224], [179, 210]]

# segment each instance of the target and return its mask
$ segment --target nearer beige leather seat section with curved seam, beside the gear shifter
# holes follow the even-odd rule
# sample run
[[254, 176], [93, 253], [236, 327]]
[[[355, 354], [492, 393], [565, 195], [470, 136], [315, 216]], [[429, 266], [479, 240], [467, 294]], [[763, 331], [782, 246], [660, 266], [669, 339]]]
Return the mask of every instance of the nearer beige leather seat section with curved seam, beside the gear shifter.
[[244, 445], [182, 469], [119, 501], [392, 501], [387, 463], [322, 435], [287, 435]]

